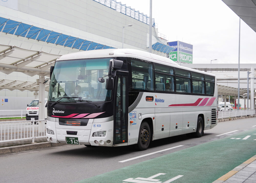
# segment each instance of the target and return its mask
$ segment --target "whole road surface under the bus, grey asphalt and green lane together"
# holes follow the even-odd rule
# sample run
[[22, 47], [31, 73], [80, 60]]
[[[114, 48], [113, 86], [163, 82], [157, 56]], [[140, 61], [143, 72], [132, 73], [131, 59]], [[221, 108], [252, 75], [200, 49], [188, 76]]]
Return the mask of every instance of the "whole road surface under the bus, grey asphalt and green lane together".
[[[254, 140], [255, 139], [255, 140]], [[64, 145], [0, 155], [0, 182], [212, 182], [256, 154], [255, 118], [128, 147]], [[139, 179], [138, 179], [139, 178]]]

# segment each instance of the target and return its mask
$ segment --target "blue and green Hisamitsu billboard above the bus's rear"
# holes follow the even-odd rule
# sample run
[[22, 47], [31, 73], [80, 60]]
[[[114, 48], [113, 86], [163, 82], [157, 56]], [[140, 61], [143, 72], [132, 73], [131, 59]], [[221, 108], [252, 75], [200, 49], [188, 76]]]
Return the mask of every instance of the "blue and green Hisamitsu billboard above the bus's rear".
[[178, 62], [193, 63], [193, 45], [181, 41], [168, 42], [168, 45], [175, 48], [169, 53], [169, 59]]

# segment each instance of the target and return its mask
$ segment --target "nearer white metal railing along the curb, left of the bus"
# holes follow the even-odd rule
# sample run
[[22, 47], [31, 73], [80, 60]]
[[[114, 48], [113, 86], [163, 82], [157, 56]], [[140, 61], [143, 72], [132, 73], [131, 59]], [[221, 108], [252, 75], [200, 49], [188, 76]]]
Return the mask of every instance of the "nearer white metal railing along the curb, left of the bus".
[[[39, 123], [44, 123], [43, 132], [39, 132]], [[35, 124], [38, 123], [38, 124]], [[0, 142], [46, 137], [46, 120], [4, 121], [0, 122]]]

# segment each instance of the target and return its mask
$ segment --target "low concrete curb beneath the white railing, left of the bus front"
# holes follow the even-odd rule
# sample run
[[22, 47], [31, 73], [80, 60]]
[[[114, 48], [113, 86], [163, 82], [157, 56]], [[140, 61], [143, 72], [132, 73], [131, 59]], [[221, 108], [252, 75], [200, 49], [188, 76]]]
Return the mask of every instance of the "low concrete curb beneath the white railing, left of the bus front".
[[26, 150], [34, 150], [34, 149], [42, 149], [46, 147], [55, 147], [55, 146], [61, 146], [61, 145], [67, 145], [64, 143], [49, 143], [49, 142], [39, 142], [34, 144], [25, 144], [25, 145], [18, 145], [18, 146], [8, 146], [8, 147], [1, 147], [0, 148], [0, 155], [2, 154], [8, 154], [8, 153], [17, 153], [21, 151]]

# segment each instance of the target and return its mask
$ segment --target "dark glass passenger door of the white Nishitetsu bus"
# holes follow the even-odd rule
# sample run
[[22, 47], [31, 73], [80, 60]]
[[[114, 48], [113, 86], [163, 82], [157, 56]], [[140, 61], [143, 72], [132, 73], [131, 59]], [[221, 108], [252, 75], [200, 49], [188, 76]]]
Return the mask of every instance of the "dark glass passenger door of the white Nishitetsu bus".
[[114, 144], [127, 142], [127, 77], [117, 75], [114, 113]]

